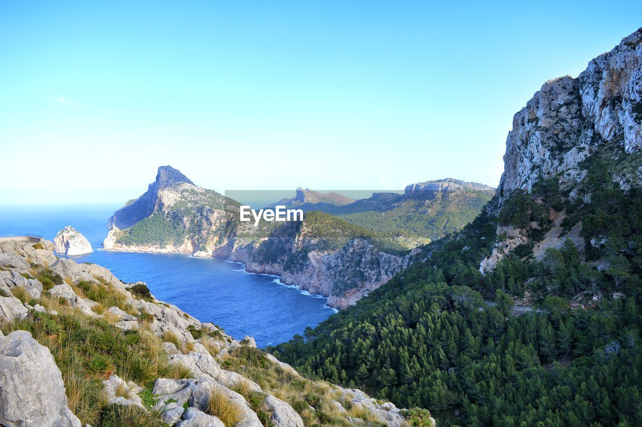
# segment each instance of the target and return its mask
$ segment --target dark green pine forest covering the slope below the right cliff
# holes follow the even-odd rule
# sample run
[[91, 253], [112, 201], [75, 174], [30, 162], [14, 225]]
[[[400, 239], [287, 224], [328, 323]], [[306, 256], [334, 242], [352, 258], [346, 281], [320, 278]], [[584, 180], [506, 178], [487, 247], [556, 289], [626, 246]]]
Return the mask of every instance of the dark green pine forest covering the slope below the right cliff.
[[[638, 423], [641, 193], [592, 162], [588, 202], [547, 193], [550, 183], [516, 193], [499, 218], [483, 214], [426, 263], [271, 351], [306, 374], [430, 408], [445, 424]], [[533, 223], [541, 236], [552, 206], [572, 213], [568, 228], [583, 218], [586, 251], [567, 241], [531, 261], [516, 250], [480, 273], [497, 223]], [[596, 260], [608, 266], [586, 262]], [[525, 295], [540, 309], [512, 311]]]

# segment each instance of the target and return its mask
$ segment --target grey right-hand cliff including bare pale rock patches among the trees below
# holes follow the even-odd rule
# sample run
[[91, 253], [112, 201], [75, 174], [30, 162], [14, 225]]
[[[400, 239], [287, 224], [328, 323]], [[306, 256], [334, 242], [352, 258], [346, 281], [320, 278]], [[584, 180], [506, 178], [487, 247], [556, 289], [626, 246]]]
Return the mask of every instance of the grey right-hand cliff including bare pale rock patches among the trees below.
[[[535, 259], [542, 259], [546, 248], [561, 247], [566, 239], [583, 252], [582, 221], [567, 218], [566, 206], [591, 201], [587, 186], [594, 177], [589, 177], [589, 169], [596, 161], [620, 189], [640, 186], [641, 152], [642, 28], [591, 60], [577, 78], [564, 76], [544, 83], [515, 114], [498, 197], [488, 211], [507, 216], [506, 211], [515, 207], [507, 208], [508, 201], [530, 193], [537, 200], [532, 206], [544, 210], [543, 220], [512, 224], [501, 223], [500, 218], [499, 241], [480, 271], [494, 270], [501, 259], [524, 245], [532, 247]], [[551, 193], [544, 186], [551, 184], [559, 187], [554, 191], [561, 196], [557, 206], [544, 200]]]

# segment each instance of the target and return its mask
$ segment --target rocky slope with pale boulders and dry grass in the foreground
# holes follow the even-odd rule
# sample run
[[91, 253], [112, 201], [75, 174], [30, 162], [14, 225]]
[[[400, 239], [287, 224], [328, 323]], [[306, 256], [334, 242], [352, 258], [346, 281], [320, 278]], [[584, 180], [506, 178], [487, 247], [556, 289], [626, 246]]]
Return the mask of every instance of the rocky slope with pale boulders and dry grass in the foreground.
[[49, 241], [0, 243], [0, 322], [3, 426], [406, 425]]

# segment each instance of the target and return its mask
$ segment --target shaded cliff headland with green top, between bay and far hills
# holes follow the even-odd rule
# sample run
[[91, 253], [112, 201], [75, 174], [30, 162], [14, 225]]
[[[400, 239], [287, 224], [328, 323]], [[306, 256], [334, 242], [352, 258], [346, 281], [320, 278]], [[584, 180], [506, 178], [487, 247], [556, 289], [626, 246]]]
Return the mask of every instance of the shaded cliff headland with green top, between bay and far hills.
[[302, 222], [288, 222], [269, 236], [239, 243], [230, 259], [249, 272], [281, 276], [328, 297], [328, 306], [343, 309], [385, 283], [411, 257], [394, 241], [321, 212], [307, 212]]

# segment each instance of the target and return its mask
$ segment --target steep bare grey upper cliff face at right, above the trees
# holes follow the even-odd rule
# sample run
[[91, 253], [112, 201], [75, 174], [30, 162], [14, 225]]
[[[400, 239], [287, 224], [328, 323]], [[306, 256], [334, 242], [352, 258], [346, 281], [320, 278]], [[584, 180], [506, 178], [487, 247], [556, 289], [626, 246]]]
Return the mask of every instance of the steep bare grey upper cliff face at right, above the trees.
[[[581, 162], [602, 147], [642, 150], [642, 28], [594, 58], [577, 78], [549, 80], [519, 110], [508, 133], [502, 200], [514, 189], [532, 190], [542, 178], [572, 184]], [[642, 175], [621, 177], [642, 183]]]

